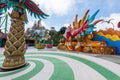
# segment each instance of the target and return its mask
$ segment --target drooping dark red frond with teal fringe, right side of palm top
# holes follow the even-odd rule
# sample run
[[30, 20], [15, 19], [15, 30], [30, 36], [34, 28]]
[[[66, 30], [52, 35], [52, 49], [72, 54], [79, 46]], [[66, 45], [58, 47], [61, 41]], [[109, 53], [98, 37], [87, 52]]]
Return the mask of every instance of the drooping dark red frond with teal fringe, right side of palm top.
[[25, 0], [24, 5], [31, 16], [34, 14], [34, 17], [39, 19], [45, 19], [46, 17], [48, 17], [48, 15], [42, 12], [42, 10], [33, 1]]

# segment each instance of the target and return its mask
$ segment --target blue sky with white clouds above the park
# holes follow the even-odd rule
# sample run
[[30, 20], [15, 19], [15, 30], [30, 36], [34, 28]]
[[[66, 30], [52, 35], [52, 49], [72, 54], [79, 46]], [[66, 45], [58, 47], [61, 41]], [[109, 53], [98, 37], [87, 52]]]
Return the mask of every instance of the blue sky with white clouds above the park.
[[[114, 29], [117, 28], [117, 23], [120, 21], [119, 0], [33, 0], [39, 4], [39, 8], [49, 15], [47, 19], [42, 20], [42, 25], [47, 29], [55, 27], [59, 30], [63, 26], [72, 24], [75, 15], [78, 14], [80, 20], [86, 10], [90, 10], [89, 15], [100, 9], [96, 19], [111, 20], [114, 24]], [[35, 19], [28, 14], [29, 23], [26, 24], [25, 29], [31, 28]], [[112, 24], [99, 23], [96, 25], [96, 30], [113, 28]]]

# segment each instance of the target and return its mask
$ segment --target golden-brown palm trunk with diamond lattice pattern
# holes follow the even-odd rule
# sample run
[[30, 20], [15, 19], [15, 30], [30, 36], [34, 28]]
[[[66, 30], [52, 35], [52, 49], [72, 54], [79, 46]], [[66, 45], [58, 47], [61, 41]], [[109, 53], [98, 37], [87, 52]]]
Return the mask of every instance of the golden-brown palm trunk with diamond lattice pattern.
[[[20, 7], [21, 8], [21, 7]], [[22, 8], [24, 10], [24, 8]], [[26, 52], [26, 44], [24, 38], [24, 24], [26, 13], [19, 15], [19, 12], [14, 10], [10, 14], [11, 27], [7, 34], [7, 41], [4, 51], [3, 69], [14, 69], [25, 65], [24, 54]]]

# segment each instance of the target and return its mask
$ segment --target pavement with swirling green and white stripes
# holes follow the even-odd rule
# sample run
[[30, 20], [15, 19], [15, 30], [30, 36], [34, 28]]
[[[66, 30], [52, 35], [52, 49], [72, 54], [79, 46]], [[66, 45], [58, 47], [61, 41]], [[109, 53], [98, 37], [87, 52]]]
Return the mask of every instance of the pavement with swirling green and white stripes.
[[[0, 52], [3, 51], [0, 49]], [[65, 52], [56, 48], [38, 50], [29, 47], [25, 57], [29, 63], [27, 67], [0, 72], [0, 80], [120, 80], [118, 61], [116, 64], [112, 59], [105, 60], [110, 57], [120, 60], [115, 55]], [[0, 64], [2, 61], [3, 56], [0, 55]]]

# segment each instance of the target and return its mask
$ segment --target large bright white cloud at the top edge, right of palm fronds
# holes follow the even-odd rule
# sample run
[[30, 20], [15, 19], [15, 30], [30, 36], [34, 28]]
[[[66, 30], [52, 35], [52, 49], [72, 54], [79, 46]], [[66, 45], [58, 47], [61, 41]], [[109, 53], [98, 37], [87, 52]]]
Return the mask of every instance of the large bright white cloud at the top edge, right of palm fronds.
[[74, 6], [75, 0], [33, 0], [39, 4], [39, 7], [45, 10], [49, 15], [66, 15]]

